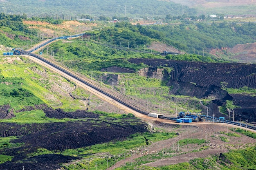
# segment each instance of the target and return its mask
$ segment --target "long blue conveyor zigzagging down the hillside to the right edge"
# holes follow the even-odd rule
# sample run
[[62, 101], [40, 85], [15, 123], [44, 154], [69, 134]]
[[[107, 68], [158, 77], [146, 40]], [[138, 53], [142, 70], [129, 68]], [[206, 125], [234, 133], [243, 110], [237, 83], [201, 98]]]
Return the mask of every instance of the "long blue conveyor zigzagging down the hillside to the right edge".
[[[52, 42], [52, 41], [54, 41], [54, 40], [58, 40], [58, 39], [67, 39], [67, 38], [74, 38], [74, 37], [79, 37], [79, 36], [82, 36], [82, 35], [85, 35], [85, 33], [53, 38], [53, 39], [51, 39], [51, 40], [48, 40], [48, 41], [44, 42], [43, 44], [40, 44], [40, 45], [34, 47], [34, 48], [31, 49], [30, 51], [23, 51], [23, 50], [22, 50], [22, 51], [21, 51], [21, 54], [31, 55], [31, 56], [33, 56], [33, 57], [36, 57], [36, 58], [38, 58], [38, 59], [40, 59], [40, 60], [46, 62], [47, 64], [50, 64], [51, 66], [54, 66], [55, 68], [59, 69], [60, 71], [63, 71], [63, 72], [66, 73], [67, 75], [70, 75], [70, 76], [74, 77], [75, 79], [79, 80], [80, 82], [83, 82], [84, 84], [86, 84], [86, 85], [88, 85], [88, 86], [94, 88], [95, 90], [97, 90], [97, 91], [99, 91], [99, 92], [101, 92], [101, 93], [103, 93], [103, 94], [105, 94], [105, 95], [111, 97], [112, 99], [116, 100], [117, 102], [119, 102], [119, 103], [121, 103], [121, 104], [124, 104], [125, 106], [131, 108], [132, 110], [135, 110], [135, 111], [137, 111], [137, 112], [139, 112], [139, 113], [142, 113], [142, 114], [144, 114], [144, 115], [148, 115], [149, 113], [148, 113], [147, 111], [141, 110], [141, 109], [138, 108], [137, 106], [134, 106], [134, 105], [132, 105], [132, 104], [128, 104], [128, 103], [124, 102], [123, 100], [121, 100], [121, 99], [115, 97], [114, 95], [112, 95], [112, 94], [110, 94], [110, 93], [108, 93], [108, 92], [106, 92], [106, 91], [103, 91], [103, 90], [101, 90], [100, 88], [94, 86], [93, 84], [91, 84], [91, 83], [89, 83], [89, 82], [87, 82], [87, 81], [85, 81], [85, 80], [83, 80], [83, 79], [77, 77], [77, 76], [74, 75], [73, 73], [71, 73], [71, 72], [69, 72], [69, 71], [67, 71], [67, 70], [65, 70], [65, 69], [63, 69], [63, 68], [61, 68], [61, 67], [59, 67], [58, 65], [56, 65], [56, 64], [54, 64], [54, 63], [52, 63], [52, 62], [49, 62], [49, 61], [46, 60], [45, 58], [40, 57], [39, 55], [36, 55], [36, 54], [32, 53], [33, 51], [35, 51], [35, 50], [37, 50], [37, 49], [39, 49], [39, 48], [41, 48], [41, 47], [43, 47], [43, 46], [49, 44], [50, 42]], [[177, 119], [177, 117], [165, 117], [165, 116], [159, 116], [158, 118], [160, 118], [160, 119], [168, 119], [168, 120], [176, 120], [176, 119]], [[195, 119], [195, 117], [192, 117], [192, 119]], [[213, 117], [211, 117], [211, 116], [206, 116], [206, 115], [196, 115], [196, 119], [197, 119], [197, 121], [198, 121], [198, 120], [199, 120], [199, 121], [201, 121], [201, 120], [208, 120], [208, 121], [214, 121], [214, 122], [220, 122], [220, 123], [234, 124], [234, 125], [238, 125], [238, 126], [242, 126], [242, 127], [245, 127], [245, 128], [249, 128], [249, 129], [256, 130], [256, 126], [252, 126], [252, 125], [248, 125], [248, 124], [240, 124], [239, 122], [236, 122], [236, 121], [225, 120], [225, 119], [223, 119], [223, 117], [219, 117], [219, 118], [218, 118], [218, 117], [214, 117], [214, 118], [213, 118]]]

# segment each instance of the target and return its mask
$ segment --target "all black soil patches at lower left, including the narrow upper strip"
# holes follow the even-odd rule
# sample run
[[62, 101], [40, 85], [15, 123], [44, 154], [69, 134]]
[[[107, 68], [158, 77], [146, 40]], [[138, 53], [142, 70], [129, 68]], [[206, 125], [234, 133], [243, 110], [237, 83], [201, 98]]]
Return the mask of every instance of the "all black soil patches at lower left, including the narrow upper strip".
[[[1, 137], [17, 136], [20, 138], [13, 140], [12, 143], [24, 143], [21, 147], [1, 150], [4, 155], [14, 157], [12, 161], [0, 164], [1, 170], [20, 170], [22, 166], [25, 170], [57, 169], [60, 168], [59, 163], [77, 158], [54, 154], [27, 158], [27, 154], [36, 152], [38, 148], [62, 151], [113, 140], [119, 141], [131, 134], [147, 131], [146, 125], [137, 118], [123, 118], [121, 123], [115, 123], [114, 118], [99, 119], [98, 114], [84, 110], [66, 113], [61, 109], [53, 110], [45, 106], [36, 106], [38, 107], [41, 107], [48, 117], [72, 117], [84, 120], [46, 124], [0, 123]], [[34, 109], [34, 107], [26, 108]]]

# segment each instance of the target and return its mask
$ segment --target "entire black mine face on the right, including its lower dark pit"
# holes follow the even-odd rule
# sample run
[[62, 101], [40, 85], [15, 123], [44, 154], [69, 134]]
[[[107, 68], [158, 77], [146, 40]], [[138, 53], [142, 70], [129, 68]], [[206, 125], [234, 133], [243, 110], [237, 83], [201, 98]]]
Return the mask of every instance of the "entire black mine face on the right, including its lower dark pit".
[[[135, 64], [143, 62], [153, 67], [148, 70], [157, 70], [156, 68], [160, 66], [171, 67], [173, 71], [168, 76], [164, 72], [162, 79], [166, 80], [168, 77], [167, 85], [173, 86], [172, 94], [198, 98], [211, 97], [213, 100], [209, 109], [210, 112], [217, 114], [216, 116], [222, 116], [218, 106], [223, 106], [227, 100], [231, 100], [240, 107], [234, 109], [236, 120], [256, 121], [256, 97], [228, 94], [222, 89], [245, 86], [256, 88], [256, 64], [200, 63], [164, 59], [131, 59], [129, 62]], [[144, 75], [150, 74], [144, 73]]]

